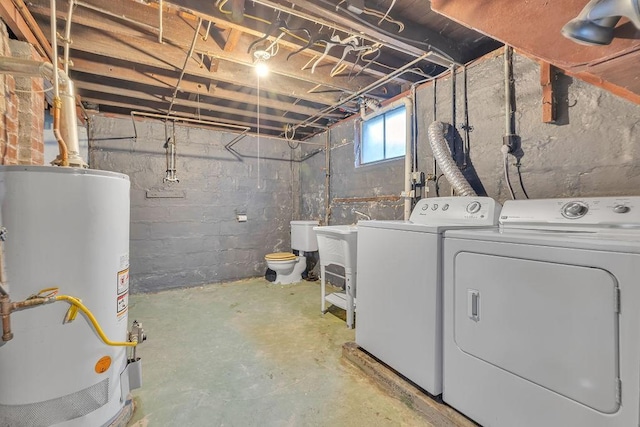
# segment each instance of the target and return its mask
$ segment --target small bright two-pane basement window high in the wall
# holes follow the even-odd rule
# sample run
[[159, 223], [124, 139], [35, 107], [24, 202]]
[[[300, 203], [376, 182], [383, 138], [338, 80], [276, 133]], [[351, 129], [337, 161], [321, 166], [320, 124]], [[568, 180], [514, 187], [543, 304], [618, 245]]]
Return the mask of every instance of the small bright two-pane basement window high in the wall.
[[405, 155], [407, 110], [404, 105], [364, 120], [361, 129], [360, 165]]

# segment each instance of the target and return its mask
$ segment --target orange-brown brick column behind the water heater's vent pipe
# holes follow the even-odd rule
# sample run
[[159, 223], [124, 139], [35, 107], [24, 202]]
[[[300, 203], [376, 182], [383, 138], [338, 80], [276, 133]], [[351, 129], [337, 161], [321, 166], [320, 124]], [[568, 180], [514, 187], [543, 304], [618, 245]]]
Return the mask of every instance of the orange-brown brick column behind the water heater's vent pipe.
[[[30, 44], [9, 40], [3, 22], [0, 22], [0, 56], [41, 60]], [[42, 79], [0, 75], [0, 91], [0, 164], [43, 164]]]

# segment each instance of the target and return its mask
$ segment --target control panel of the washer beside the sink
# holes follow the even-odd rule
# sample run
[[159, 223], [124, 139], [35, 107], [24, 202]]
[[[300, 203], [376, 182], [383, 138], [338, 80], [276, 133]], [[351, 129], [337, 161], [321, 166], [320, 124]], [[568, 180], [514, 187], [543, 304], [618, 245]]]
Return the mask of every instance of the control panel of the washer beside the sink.
[[496, 225], [501, 207], [490, 197], [433, 197], [418, 201], [409, 220], [416, 224]]

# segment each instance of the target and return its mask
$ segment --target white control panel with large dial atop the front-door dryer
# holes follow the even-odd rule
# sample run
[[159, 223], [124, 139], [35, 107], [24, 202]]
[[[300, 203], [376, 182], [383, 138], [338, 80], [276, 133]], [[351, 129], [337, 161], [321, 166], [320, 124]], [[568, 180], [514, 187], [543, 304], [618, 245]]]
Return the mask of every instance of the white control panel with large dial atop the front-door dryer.
[[500, 214], [503, 226], [640, 227], [640, 197], [509, 200]]

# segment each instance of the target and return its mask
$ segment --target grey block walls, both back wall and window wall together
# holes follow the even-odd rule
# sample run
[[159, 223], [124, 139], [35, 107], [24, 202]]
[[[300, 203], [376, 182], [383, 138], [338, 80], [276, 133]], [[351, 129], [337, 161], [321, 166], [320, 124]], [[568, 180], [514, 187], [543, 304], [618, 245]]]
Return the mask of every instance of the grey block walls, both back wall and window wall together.
[[[455, 87], [446, 76], [416, 89], [418, 170], [441, 174], [427, 139], [435, 105], [437, 119], [452, 124], [446, 136], [458, 164], [466, 163], [465, 176], [478, 194], [500, 202], [510, 198], [501, 153], [503, 66], [497, 53], [468, 66], [466, 74], [458, 72]], [[547, 124], [541, 119], [539, 64], [514, 55], [514, 80], [518, 158], [531, 198], [640, 195], [640, 106], [560, 74], [554, 82], [558, 117]], [[356, 167], [358, 126], [357, 117], [343, 121], [295, 150], [264, 137], [258, 150], [257, 138], [246, 137], [234, 146], [235, 154], [224, 148], [233, 134], [176, 126], [180, 182], [163, 183], [171, 126], [142, 120], [134, 131], [130, 119], [93, 117], [92, 167], [131, 177], [133, 291], [263, 275], [266, 253], [290, 249], [289, 221], [324, 221], [327, 208], [330, 224], [356, 223], [362, 219], [356, 211], [401, 219], [404, 159]], [[522, 198], [516, 163], [509, 156], [513, 188]], [[436, 191], [435, 182], [428, 182], [428, 197], [451, 194], [446, 179], [438, 183]], [[238, 222], [236, 213], [246, 213], [248, 221]]]

